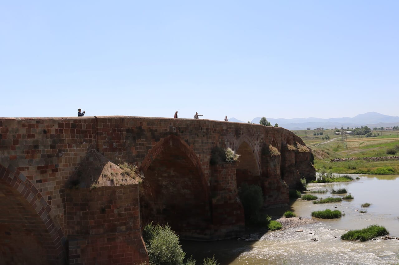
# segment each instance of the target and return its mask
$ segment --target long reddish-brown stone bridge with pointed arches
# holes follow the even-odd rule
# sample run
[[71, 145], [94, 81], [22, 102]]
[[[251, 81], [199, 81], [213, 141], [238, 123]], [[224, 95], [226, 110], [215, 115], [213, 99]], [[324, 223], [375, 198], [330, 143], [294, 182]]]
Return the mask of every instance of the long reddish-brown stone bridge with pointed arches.
[[[231, 148], [239, 162], [213, 159]], [[241, 183], [265, 207], [313, 179], [311, 150], [280, 127], [148, 117], [0, 118], [0, 264], [138, 264], [142, 226], [181, 238], [244, 231]], [[134, 164], [142, 183], [117, 166]], [[139, 188], [140, 187], [140, 188]], [[140, 189], [140, 191], [139, 191]]]

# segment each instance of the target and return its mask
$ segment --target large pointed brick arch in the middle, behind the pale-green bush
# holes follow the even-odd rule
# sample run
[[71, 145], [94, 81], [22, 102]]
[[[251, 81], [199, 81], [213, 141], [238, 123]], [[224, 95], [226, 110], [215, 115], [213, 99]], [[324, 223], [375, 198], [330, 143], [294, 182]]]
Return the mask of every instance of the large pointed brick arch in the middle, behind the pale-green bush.
[[209, 187], [192, 148], [174, 134], [166, 136], [148, 152], [140, 171], [143, 225], [168, 223], [182, 238], [204, 236], [211, 223]]

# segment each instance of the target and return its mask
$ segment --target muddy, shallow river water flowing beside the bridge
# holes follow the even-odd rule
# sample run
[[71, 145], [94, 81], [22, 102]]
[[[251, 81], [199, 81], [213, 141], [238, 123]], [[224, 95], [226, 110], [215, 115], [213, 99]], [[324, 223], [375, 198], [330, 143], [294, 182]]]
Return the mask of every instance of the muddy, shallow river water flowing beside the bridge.
[[[352, 175], [355, 178], [358, 175]], [[348, 242], [340, 236], [348, 230], [365, 228], [370, 224], [385, 226], [389, 235], [399, 237], [399, 176], [361, 175], [347, 183], [314, 183], [308, 189], [326, 189], [319, 198], [342, 197], [331, 194], [332, 189], [346, 188], [353, 200], [341, 203], [313, 204], [298, 199], [290, 207], [275, 209], [279, 215], [287, 209], [297, 216], [311, 218], [314, 210], [342, 210], [339, 219], [318, 219], [320, 222], [282, 231], [267, 232], [257, 242], [227, 240], [218, 242], [185, 242], [184, 251], [198, 261], [215, 255], [221, 265], [263, 264], [396, 264], [399, 263], [399, 240], [370, 240]], [[371, 203], [361, 208], [362, 203]], [[336, 207], [336, 208], [335, 208]], [[367, 210], [360, 213], [360, 210]], [[296, 232], [302, 229], [303, 232]], [[317, 241], [312, 241], [316, 238]]]

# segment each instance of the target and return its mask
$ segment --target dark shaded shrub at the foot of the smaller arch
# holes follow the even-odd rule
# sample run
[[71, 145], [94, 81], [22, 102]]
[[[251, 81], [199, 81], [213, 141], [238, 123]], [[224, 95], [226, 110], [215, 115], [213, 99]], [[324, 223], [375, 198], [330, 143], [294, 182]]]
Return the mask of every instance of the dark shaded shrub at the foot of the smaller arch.
[[244, 207], [245, 218], [247, 220], [259, 218], [258, 212], [263, 206], [263, 193], [259, 185], [241, 184], [238, 189], [238, 196]]

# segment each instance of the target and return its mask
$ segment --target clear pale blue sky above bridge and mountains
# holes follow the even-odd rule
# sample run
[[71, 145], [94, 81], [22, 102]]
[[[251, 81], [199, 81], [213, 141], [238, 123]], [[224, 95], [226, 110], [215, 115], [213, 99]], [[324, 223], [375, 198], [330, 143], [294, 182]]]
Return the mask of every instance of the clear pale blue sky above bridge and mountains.
[[399, 1], [1, 1], [0, 117], [399, 116]]

